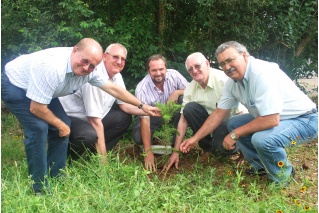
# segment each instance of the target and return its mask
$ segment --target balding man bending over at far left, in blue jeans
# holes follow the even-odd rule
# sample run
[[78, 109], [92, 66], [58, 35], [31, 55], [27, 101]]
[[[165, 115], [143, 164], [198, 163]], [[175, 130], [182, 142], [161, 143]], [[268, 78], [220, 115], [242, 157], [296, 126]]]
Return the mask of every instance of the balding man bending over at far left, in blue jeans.
[[36, 195], [48, 187], [45, 177], [58, 176], [66, 164], [70, 119], [58, 97], [74, 93], [89, 82], [150, 115], [157, 112], [154, 107], [141, 106], [131, 93], [95, 71], [102, 53], [97, 41], [84, 38], [74, 47], [21, 55], [7, 63], [2, 72], [1, 99], [24, 129], [28, 172]]

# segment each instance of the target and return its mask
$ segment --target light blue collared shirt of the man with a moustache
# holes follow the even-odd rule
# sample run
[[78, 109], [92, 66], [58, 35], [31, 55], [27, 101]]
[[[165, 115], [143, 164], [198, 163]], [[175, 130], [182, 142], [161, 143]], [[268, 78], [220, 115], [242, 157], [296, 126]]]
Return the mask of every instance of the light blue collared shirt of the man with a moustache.
[[252, 56], [243, 80], [227, 80], [218, 107], [230, 109], [237, 103], [245, 105], [255, 118], [271, 114], [280, 114], [280, 119], [295, 118], [316, 108], [293, 81], [271, 63]]

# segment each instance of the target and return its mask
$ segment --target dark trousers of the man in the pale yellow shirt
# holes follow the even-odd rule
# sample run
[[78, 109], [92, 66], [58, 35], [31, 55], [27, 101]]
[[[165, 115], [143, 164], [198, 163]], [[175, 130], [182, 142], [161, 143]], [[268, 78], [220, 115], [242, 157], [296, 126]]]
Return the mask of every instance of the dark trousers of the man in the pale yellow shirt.
[[[196, 102], [187, 103], [184, 107], [183, 115], [194, 134], [201, 128], [209, 116], [205, 108]], [[237, 149], [228, 151], [223, 147], [224, 138], [228, 134], [229, 131], [226, 124], [222, 123], [212, 134], [201, 139], [198, 145], [204, 152], [212, 152], [213, 154], [227, 155], [235, 153]]]

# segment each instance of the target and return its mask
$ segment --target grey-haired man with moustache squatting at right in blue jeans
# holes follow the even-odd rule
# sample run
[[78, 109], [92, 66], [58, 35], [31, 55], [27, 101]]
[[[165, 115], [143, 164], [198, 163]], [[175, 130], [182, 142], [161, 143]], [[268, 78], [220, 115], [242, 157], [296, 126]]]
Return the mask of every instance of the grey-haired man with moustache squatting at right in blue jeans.
[[240, 102], [249, 113], [228, 120], [230, 134], [224, 138], [224, 148], [231, 150], [237, 143], [253, 167], [247, 173], [266, 173], [271, 182], [287, 184], [294, 170], [285, 148], [317, 137], [315, 103], [277, 64], [255, 59], [238, 42], [220, 45], [215, 56], [231, 79], [225, 84], [217, 109], [192, 138], [181, 144], [181, 151], [188, 152]]

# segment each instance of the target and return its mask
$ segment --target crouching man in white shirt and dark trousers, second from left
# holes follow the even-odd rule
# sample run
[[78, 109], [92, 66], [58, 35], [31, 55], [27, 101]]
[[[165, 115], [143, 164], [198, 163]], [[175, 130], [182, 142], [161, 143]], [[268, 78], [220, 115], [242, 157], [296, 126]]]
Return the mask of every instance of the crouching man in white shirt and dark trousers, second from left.
[[[126, 57], [127, 49], [122, 44], [111, 44], [106, 48], [97, 71], [101, 71], [110, 81], [125, 89], [121, 71], [124, 69]], [[71, 119], [68, 154], [73, 160], [86, 150], [105, 156], [131, 125], [130, 114], [146, 115], [143, 110], [88, 83], [74, 94], [60, 97], [60, 101]], [[119, 107], [112, 107], [115, 102]]]

